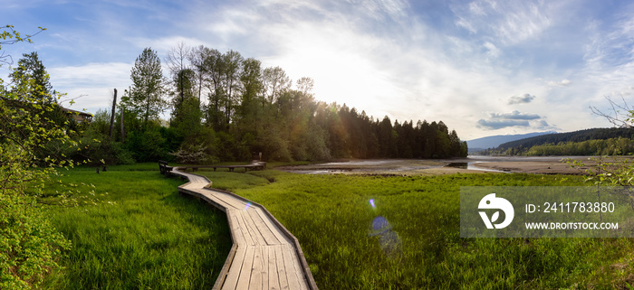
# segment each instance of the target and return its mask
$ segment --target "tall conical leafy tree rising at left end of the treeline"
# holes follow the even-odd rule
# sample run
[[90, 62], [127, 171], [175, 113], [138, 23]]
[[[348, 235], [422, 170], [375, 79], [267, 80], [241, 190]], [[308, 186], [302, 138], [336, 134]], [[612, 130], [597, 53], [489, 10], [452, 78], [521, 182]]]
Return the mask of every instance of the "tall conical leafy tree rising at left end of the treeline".
[[143, 126], [148, 125], [150, 119], [158, 119], [159, 114], [167, 107], [163, 98], [163, 72], [159, 56], [151, 48], [145, 48], [134, 61], [130, 73], [132, 86], [122, 98], [128, 110], [142, 118]]

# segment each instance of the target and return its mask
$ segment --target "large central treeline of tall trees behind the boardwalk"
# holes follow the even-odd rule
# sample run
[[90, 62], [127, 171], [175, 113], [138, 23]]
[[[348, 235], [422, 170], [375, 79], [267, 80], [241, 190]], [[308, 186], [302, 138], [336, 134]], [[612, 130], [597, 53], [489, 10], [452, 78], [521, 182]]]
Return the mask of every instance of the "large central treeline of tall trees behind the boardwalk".
[[[260, 152], [279, 161], [466, 156], [466, 142], [442, 121], [392, 122], [318, 101], [312, 79], [293, 83], [282, 68], [262, 68], [237, 51], [178, 44], [164, 61], [144, 49], [119, 101], [96, 112], [90, 125], [71, 125], [88, 145], [77, 159], [210, 164], [248, 161]], [[166, 111], [169, 120], [161, 120]]]

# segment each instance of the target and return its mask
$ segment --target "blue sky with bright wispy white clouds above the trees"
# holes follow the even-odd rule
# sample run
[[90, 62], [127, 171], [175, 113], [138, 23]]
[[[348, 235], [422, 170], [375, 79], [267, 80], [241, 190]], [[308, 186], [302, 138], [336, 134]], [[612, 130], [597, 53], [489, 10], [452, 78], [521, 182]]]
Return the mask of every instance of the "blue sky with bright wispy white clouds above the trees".
[[0, 24], [47, 29], [3, 51], [37, 51], [53, 89], [91, 113], [130, 87], [144, 48], [164, 61], [179, 42], [312, 78], [316, 99], [373, 117], [442, 120], [463, 140], [611, 126], [590, 107], [634, 103], [631, 1], [2, 2]]

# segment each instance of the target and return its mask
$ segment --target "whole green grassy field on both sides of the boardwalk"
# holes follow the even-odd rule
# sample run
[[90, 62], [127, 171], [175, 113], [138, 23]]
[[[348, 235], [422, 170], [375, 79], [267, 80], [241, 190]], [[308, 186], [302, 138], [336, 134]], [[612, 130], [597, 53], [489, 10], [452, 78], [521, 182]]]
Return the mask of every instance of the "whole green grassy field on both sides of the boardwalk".
[[[51, 210], [73, 248], [47, 287], [213, 285], [230, 248], [224, 214], [179, 196], [181, 182], [156, 167], [69, 173], [67, 181], [109, 194], [98, 205]], [[634, 282], [632, 239], [459, 237], [460, 186], [582, 185], [581, 177], [199, 173], [270, 210], [300, 240], [321, 289], [628, 289]]]

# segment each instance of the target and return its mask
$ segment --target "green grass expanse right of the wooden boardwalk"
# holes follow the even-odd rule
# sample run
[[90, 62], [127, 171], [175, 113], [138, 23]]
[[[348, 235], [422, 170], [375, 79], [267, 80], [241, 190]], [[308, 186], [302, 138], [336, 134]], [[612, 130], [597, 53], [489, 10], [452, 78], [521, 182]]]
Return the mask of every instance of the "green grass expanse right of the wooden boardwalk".
[[[583, 185], [581, 177], [200, 173], [263, 204], [293, 232], [321, 289], [611, 289], [634, 282], [632, 239], [459, 237], [460, 186]], [[389, 220], [391, 240], [371, 229], [379, 216]]]

